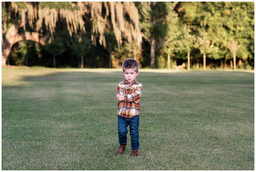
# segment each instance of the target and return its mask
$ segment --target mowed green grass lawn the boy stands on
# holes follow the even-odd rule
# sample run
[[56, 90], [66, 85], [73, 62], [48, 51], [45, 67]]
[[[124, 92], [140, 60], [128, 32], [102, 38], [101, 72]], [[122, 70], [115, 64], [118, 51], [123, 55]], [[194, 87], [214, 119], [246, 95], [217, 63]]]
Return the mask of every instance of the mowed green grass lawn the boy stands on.
[[139, 72], [133, 158], [129, 132], [115, 155], [121, 69], [2, 67], [2, 170], [254, 170], [254, 73]]

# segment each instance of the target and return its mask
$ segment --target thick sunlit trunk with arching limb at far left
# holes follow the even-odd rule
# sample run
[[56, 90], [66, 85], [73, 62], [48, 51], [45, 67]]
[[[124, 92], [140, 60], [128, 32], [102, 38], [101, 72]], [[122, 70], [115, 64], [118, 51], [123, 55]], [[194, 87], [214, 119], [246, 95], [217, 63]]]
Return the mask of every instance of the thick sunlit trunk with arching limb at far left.
[[50, 36], [50, 32], [47, 32], [46, 35], [41, 38], [39, 38], [39, 33], [37, 32], [18, 33], [18, 30], [21, 27], [23, 27], [21, 23], [15, 22], [9, 27], [5, 34], [5, 38], [2, 43], [2, 66], [6, 66], [9, 53], [16, 42], [30, 40], [45, 45], [46, 40]]

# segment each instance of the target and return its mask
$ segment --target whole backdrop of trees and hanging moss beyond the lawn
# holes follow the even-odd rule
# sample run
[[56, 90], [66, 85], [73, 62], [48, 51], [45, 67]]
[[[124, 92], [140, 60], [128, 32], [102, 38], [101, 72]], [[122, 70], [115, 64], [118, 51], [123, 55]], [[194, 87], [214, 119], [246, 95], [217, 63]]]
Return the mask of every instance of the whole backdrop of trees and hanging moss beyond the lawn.
[[[46, 51], [55, 39], [66, 42], [65, 53]], [[7, 59], [27, 64], [26, 46], [35, 43], [16, 43], [28, 40], [48, 46], [37, 48], [38, 58], [51, 54], [70, 61], [64, 59], [72, 56], [74, 64], [85, 58], [85, 67], [120, 67], [132, 57], [151, 68], [170, 68], [169, 58], [204, 69], [229, 61], [235, 67], [236, 60], [239, 67], [254, 68], [254, 3], [2, 2], [2, 65]]]

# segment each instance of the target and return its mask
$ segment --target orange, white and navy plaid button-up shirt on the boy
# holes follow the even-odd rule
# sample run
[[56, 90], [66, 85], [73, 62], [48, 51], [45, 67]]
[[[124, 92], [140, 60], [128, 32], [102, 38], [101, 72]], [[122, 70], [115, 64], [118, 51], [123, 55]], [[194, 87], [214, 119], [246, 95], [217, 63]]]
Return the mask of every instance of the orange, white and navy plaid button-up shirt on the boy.
[[140, 103], [134, 103], [138, 100], [142, 94], [142, 84], [137, 82], [136, 79], [132, 84], [126, 80], [118, 83], [116, 95], [123, 95], [124, 101], [117, 102], [117, 114], [125, 118], [130, 118], [136, 115], [140, 115]]

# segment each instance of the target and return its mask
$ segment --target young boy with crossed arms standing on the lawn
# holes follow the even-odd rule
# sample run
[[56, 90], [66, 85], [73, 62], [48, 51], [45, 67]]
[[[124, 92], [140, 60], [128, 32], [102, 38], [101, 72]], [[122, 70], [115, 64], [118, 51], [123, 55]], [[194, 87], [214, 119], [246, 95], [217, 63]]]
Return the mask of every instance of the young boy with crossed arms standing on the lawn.
[[142, 85], [136, 81], [139, 72], [139, 64], [134, 59], [126, 59], [123, 62], [123, 74], [125, 80], [118, 83], [116, 98], [118, 100], [118, 137], [119, 148], [116, 155], [122, 155], [127, 142], [127, 126], [130, 128], [132, 156], [138, 156], [139, 143], [139, 117], [140, 117], [140, 97]]

